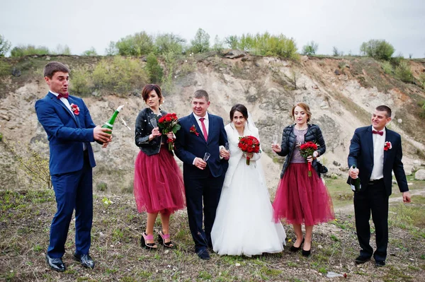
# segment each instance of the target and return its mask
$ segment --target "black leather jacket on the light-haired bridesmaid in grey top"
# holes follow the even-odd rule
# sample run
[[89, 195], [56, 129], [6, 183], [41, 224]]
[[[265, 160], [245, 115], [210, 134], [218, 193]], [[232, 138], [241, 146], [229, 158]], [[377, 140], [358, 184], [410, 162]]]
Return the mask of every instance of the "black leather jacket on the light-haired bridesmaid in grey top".
[[[290, 164], [290, 158], [292, 157], [292, 154], [295, 148], [297, 136], [295, 136], [294, 134], [294, 126], [295, 124], [285, 127], [285, 129], [283, 129], [282, 144], [280, 145], [280, 147], [282, 148], [282, 151], [280, 151], [278, 155], [281, 155], [281, 156], [286, 155], [286, 159], [285, 159], [285, 163], [283, 163], [282, 172], [280, 172], [280, 178], [282, 178], [283, 175], [285, 174], [285, 170], [288, 168], [288, 165]], [[314, 143], [317, 143], [319, 145], [319, 148], [317, 148], [317, 152], [319, 153], [319, 155], [323, 155], [324, 152], [326, 151], [326, 145], [324, 144], [322, 131], [317, 125], [308, 124], [307, 133], [305, 134], [304, 139], [305, 139], [305, 142], [313, 141]], [[314, 168], [314, 170], [316, 170], [317, 175], [320, 175], [317, 169], [316, 159], [313, 160], [312, 167]]]

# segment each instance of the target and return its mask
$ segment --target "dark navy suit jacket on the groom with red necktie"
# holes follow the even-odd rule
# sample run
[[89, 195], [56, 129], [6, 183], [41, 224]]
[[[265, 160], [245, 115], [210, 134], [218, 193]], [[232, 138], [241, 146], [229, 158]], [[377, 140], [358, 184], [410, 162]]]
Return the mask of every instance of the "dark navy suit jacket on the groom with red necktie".
[[[208, 169], [213, 177], [219, 177], [226, 173], [229, 166], [227, 160], [220, 160], [219, 146], [225, 146], [225, 143], [227, 143], [223, 119], [210, 113], [208, 113], [208, 118], [208, 141], [205, 141], [202, 129], [198, 126], [193, 113], [179, 119], [181, 129], [176, 133], [176, 149], [174, 152], [183, 161], [183, 174], [190, 175], [191, 178], [208, 177]], [[196, 127], [198, 136], [191, 132], [192, 126]], [[196, 157], [203, 158], [206, 152], [211, 154], [207, 160], [207, 168], [200, 170], [193, 165], [193, 160]]]

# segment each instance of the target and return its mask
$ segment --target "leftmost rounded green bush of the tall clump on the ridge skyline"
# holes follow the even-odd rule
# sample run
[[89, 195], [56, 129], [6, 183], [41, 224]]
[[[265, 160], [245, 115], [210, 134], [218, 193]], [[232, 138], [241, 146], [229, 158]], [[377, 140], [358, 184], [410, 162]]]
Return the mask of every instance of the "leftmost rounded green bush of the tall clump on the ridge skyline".
[[115, 43], [122, 56], [142, 56], [154, 51], [154, 41], [145, 31], [128, 35]]

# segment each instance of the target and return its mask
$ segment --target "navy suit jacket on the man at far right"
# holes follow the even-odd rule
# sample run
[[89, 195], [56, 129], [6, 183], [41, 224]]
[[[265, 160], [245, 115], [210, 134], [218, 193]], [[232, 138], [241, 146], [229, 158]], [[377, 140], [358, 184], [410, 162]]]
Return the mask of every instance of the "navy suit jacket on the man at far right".
[[[386, 127], [385, 130], [385, 142], [389, 141], [392, 144], [391, 149], [384, 151], [383, 168], [385, 191], [387, 192], [387, 196], [390, 196], [392, 192], [392, 171], [394, 171], [400, 192], [409, 191], [409, 187], [407, 187], [406, 175], [402, 163], [402, 139], [397, 132]], [[360, 127], [354, 131], [353, 139], [351, 139], [350, 153], [348, 154], [348, 168], [351, 168], [352, 165], [356, 165], [359, 170], [358, 177], [360, 177], [362, 189], [367, 189], [373, 170], [372, 126]], [[348, 177], [347, 183], [351, 183], [351, 177]]]

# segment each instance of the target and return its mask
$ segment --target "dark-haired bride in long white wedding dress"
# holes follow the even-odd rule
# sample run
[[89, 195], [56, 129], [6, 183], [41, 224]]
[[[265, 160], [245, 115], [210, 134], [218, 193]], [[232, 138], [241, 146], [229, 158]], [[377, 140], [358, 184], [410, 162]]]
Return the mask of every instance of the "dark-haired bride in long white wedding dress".
[[[251, 153], [250, 164], [237, 144], [239, 137], [251, 135], [259, 139], [259, 129], [248, 117], [246, 107], [234, 105], [232, 122], [225, 127], [229, 140], [229, 168], [211, 231], [212, 247], [217, 254], [247, 257], [283, 251], [285, 230], [274, 223], [273, 208], [259, 158]], [[249, 120], [248, 120], [249, 119]]]

